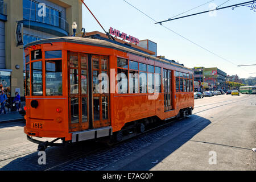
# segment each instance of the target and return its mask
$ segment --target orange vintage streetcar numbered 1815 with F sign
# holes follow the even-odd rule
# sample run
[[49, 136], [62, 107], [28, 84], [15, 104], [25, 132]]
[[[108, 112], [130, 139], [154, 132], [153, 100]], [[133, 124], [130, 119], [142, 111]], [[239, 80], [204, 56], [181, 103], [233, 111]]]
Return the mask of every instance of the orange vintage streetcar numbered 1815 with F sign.
[[38, 150], [58, 139], [121, 141], [192, 114], [193, 72], [175, 61], [96, 36], [38, 40], [25, 53], [24, 133]]

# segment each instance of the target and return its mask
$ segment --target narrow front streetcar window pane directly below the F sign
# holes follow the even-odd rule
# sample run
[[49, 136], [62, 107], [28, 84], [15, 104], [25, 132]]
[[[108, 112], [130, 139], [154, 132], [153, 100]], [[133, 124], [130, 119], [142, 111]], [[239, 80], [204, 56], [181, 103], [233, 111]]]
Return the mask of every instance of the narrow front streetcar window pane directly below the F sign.
[[32, 96], [43, 96], [42, 61], [32, 63]]

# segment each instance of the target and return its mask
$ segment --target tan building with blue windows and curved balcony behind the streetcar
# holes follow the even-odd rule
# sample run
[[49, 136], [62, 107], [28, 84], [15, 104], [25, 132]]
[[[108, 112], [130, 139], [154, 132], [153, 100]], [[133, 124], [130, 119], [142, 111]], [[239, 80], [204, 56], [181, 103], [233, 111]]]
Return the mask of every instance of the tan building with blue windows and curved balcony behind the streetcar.
[[0, 0], [0, 89], [24, 96], [24, 51], [35, 40], [69, 36], [82, 28], [80, 0]]

